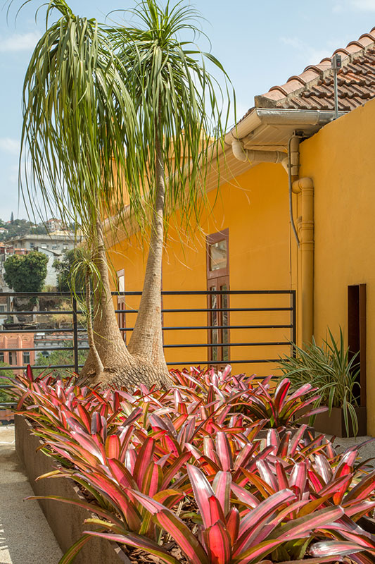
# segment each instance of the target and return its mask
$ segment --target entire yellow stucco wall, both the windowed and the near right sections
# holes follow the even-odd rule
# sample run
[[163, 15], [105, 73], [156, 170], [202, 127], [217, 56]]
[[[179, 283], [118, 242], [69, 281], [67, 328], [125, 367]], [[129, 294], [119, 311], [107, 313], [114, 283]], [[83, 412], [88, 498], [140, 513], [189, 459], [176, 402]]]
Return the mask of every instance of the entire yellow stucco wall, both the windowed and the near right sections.
[[[348, 333], [348, 286], [367, 284], [367, 405], [375, 400], [375, 100], [326, 125], [300, 145], [300, 176], [314, 181], [314, 335], [319, 341], [329, 327]], [[237, 185], [236, 185], [237, 183]], [[201, 229], [182, 245], [178, 230], [170, 229], [163, 261], [164, 290], [205, 290], [205, 235], [229, 228], [229, 281], [231, 290], [296, 288], [298, 250], [291, 235], [288, 186], [281, 165], [260, 164], [224, 184], [212, 214], [201, 219]], [[215, 193], [209, 195], [213, 201]], [[293, 196], [295, 219], [300, 215]], [[176, 220], [178, 224], [178, 219]], [[125, 289], [141, 290], [146, 252], [132, 238], [110, 252], [116, 270], [125, 269]], [[136, 307], [137, 298], [128, 305]], [[205, 307], [205, 298], [165, 298], [164, 307]], [[231, 307], [270, 305], [266, 298], [231, 298]], [[272, 305], [288, 305], [275, 298]], [[300, 312], [299, 312], [300, 314]], [[231, 314], [231, 324], [280, 323], [286, 314]], [[252, 317], [253, 316], [253, 317]], [[135, 315], [129, 314], [128, 326]], [[256, 318], [256, 319], [255, 319]], [[165, 326], [203, 325], [206, 314], [165, 314]], [[276, 341], [289, 338], [287, 330], [233, 330], [232, 343]], [[166, 331], [165, 344], [205, 343], [205, 331]], [[206, 348], [166, 348], [167, 361], [205, 360]], [[232, 348], [231, 360], [270, 357], [285, 348]], [[251, 369], [253, 368], [253, 370]], [[274, 365], [234, 364], [234, 372], [274, 372]], [[375, 411], [368, 410], [368, 432], [375, 436]]]

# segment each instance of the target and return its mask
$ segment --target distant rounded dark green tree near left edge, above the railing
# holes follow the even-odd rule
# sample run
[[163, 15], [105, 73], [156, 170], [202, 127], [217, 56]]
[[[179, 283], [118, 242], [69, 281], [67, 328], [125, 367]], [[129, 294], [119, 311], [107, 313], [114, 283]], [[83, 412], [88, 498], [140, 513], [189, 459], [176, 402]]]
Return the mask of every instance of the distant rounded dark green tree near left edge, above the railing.
[[48, 257], [32, 251], [28, 255], [11, 255], [4, 262], [4, 280], [15, 292], [41, 292], [47, 275]]

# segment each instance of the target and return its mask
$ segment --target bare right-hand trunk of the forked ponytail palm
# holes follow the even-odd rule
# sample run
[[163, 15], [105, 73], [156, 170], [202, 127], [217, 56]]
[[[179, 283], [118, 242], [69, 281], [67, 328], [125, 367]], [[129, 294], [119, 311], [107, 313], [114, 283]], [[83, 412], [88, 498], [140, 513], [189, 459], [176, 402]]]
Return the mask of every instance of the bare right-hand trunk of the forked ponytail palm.
[[[158, 133], [155, 139], [156, 197], [151, 225], [150, 249], [144, 277], [139, 313], [129, 341], [129, 352], [152, 362], [168, 377], [163, 351], [161, 276], [164, 240], [164, 160]], [[166, 381], [167, 383], [167, 381]]]

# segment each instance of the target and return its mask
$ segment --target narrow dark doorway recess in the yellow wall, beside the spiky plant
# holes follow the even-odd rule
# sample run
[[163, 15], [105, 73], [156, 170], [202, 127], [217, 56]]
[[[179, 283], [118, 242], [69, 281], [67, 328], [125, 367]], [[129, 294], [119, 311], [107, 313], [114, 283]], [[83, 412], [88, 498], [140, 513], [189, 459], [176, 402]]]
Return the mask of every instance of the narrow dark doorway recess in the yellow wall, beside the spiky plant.
[[361, 386], [360, 405], [366, 405], [366, 284], [348, 286], [348, 347], [349, 360], [359, 353], [358, 384]]

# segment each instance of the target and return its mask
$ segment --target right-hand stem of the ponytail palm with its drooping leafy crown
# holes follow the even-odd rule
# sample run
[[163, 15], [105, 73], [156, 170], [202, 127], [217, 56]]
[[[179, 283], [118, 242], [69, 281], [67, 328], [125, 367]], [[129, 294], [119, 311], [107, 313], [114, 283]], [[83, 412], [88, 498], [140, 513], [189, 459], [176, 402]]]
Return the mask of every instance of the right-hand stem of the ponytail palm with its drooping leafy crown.
[[172, 6], [167, 1], [163, 8], [155, 0], [141, 0], [129, 13], [139, 25], [109, 32], [125, 67], [143, 134], [137, 146], [145, 164], [144, 206], [140, 208], [151, 224], [144, 288], [129, 352], [153, 362], [163, 373], [167, 367], [160, 291], [165, 222], [175, 209], [182, 226], [189, 227], [191, 218], [199, 219], [205, 179], [224, 139], [229, 111], [229, 97], [224, 100], [205, 61], [220, 71], [224, 81], [227, 75], [212, 54], [203, 53], [189, 40], [201, 33], [196, 26], [199, 15], [190, 6], [182, 1]]

